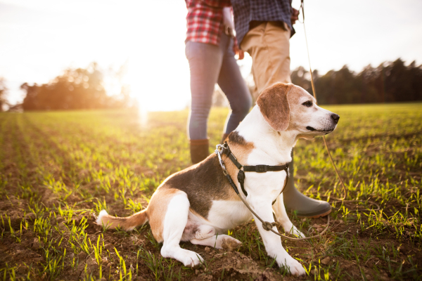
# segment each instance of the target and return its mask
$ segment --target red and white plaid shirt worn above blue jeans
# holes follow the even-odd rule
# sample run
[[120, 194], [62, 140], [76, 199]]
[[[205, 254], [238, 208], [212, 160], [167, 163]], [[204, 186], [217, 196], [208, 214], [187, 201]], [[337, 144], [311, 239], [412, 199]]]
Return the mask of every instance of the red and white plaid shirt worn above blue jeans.
[[218, 45], [224, 32], [223, 8], [231, 6], [230, 0], [185, 0], [186, 41]]

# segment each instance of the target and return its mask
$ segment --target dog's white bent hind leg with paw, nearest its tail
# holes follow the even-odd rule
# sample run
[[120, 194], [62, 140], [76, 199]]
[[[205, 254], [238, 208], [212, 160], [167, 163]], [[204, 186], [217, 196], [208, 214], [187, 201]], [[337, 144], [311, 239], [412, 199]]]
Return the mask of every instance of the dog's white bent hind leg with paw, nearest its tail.
[[[195, 267], [203, 259], [194, 251], [181, 249], [179, 242], [188, 222], [189, 200], [185, 192], [177, 192], [167, 205], [162, 226], [161, 255], [165, 258], [177, 259], [184, 266]], [[151, 219], [151, 221], [153, 221]]]

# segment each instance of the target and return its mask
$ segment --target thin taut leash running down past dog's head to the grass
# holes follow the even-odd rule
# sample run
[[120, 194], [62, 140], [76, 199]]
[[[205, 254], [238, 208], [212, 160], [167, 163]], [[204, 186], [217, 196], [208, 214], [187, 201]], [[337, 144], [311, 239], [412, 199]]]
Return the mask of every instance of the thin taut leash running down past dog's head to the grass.
[[[301, 0], [300, 1], [300, 8], [299, 8], [299, 10], [302, 10], [302, 21], [299, 20], [299, 22], [302, 23], [302, 25], [303, 25], [303, 32], [305, 34], [306, 51], [307, 51], [308, 63], [309, 63], [309, 73], [311, 74], [312, 94], [314, 95], [314, 98], [316, 100], [316, 91], [315, 91], [315, 84], [314, 84], [314, 74], [312, 72], [312, 67], [311, 67], [311, 56], [309, 55], [309, 46], [308, 46], [308, 43], [307, 43], [307, 35], [306, 35], [306, 28], [305, 28], [305, 5], [304, 5], [304, 0]], [[335, 197], [333, 197], [332, 198], [333, 199], [332, 202], [334, 204], [336, 204], [338, 202], [342, 202], [342, 203], [343, 202], [349, 202], [349, 203], [352, 203], [352, 202], [354, 202], [354, 203], [366, 202], [366, 203], [369, 203], [371, 205], [375, 205], [377, 207], [377, 209], [373, 209], [373, 211], [379, 211], [381, 209], [380, 206], [378, 204], [376, 204], [375, 202], [372, 202], [372, 201], [345, 200], [347, 198], [347, 196], [349, 195], [349, 192], [348, 192], [348, 190], [347, 190], [347, 188], [345, 186], [345, 183], [343, 182], [343, 178], [340, 176], [340, 173], [338, 172], [337, 165], [335, 165], [334, 160], [333, 160], [333, 157], [331, 156], [330, 148], [328, 148], [328, 143], [327, 143], [326, 137], [325, 136], [322, 136], [322, 139], [324, 140], [324, 145], [325, 145], [326, 150], [328, 152], [328, 157], [330, 158], [331, 164], [333, 164], [333, 167], [334, 167], [334, 170], [335, 170], [335, 174], [338, 176], [338, 179], [340, 181], [340, 184], [341, 184], [341, 186], [343, 188], [343, 192], [344, 192], [344, 195], [343, 195], [342, 198], [335, 198]], [[367, 211], [370, 211], [370, 209], [368, 209], [368, 208], [366, 208], [366, 209], [352, 209], [350, 211], [364, 211], [364, 210], [365, 211], [366, 210]]]

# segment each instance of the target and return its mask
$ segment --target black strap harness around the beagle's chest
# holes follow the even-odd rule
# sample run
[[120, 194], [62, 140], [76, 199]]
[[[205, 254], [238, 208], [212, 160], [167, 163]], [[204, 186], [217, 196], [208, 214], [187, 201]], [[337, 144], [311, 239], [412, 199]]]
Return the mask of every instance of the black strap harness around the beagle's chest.
[[[237, 194], [239, 194], [239, 191], [238, 191], [236, 185], [234, 184], [233, 180], [231, 179], [231, 176], [227, 173], [226, 166], [224, 166], [224, 162], [222, 160], [221, 155], [226, 155], [227, 157], [229, 157], [231, 162], [233, 162], [233, 164], [237, 167], [237, 169], [239, 169], [239, 171], [238, 171], [238, 182], [241, 184], [241, 188], [242, 188], [243, 194], [245, 194], [245, 196], [248, 196], [248, 192], [246, 192], [245, 186], [244, 186], [245, 171], [255, 171], [256, 173], [266, 173], [267, 171], [286, 171], [286, 181], [284, 182], [284, 186], [283, 186], [283, 189], [281, 190], [281, 192], [283, 192], [284, 188], [286, 188], [286, 184], [287, 184], [287, 181], [288, 181], [288, 165], [290, 164], [290, 162], [283, 164], [283, 165], [277, 165], [277, 166], [269, 166], [269, 165], [243, 166], [241, 163], [238, 162], [236, 157], [233, 155], [233, 153], [231, 152], [231, 150], [229, 148], [229, 144], [227, 142], [224, 142], [223, 145], [217, 145], [216, 148], [217, 149], [215, 150], [215, 153], [219, 157], [219, 163], [222, 166], [223, 173], [226, 176], [226, 178], [229, 180], [231, 187], [234, 189], [234, 191]], [[242, 170], [242, 168], [243, 168], [243, 170]], [[274, 202], [273, 202], [273, 204], [274, 204]]]

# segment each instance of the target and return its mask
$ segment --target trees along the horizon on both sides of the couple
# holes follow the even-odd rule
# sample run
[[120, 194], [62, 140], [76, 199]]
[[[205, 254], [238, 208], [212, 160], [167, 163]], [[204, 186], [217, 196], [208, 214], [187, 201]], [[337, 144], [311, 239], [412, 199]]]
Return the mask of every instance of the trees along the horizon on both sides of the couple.
[[[116, 76], [121, 77], [122, 73]], [[321, 104], [422, 100], [422, 65], [416, 65], [416, 62], [406, 65], [403, 60], [397, 59], [381, 63], [378, 67], [366, 66], [359, 73], [349, 70], [345, 65], [340, 70], [330, 70], [324, 75], [314, 70], [313, 76], [318, 102]], [[109, 96], [103, 78], [103, 71], [96, 63], [91, 63], [86, 69], [69, 68], [49, 83], [22, 84], [20, 88], [26, 95], [23, 103], [15, 107], [23, 110], [78, 110], [134, 105], [126, 85], [121, 85], [120, 93]], [[312, 94], [310, 74], [304, 67], [293, 70], [291, 78], [293, 84]], [[0, 78], [0, 111], [3, 105], [8, 105], [5, 98], [7, 91], [4, 79]], [[220, 103], [222, 100], [218, 97], [213, 102], [214, 105]], [[9, 107], [13, 108], [11, 105]]]

